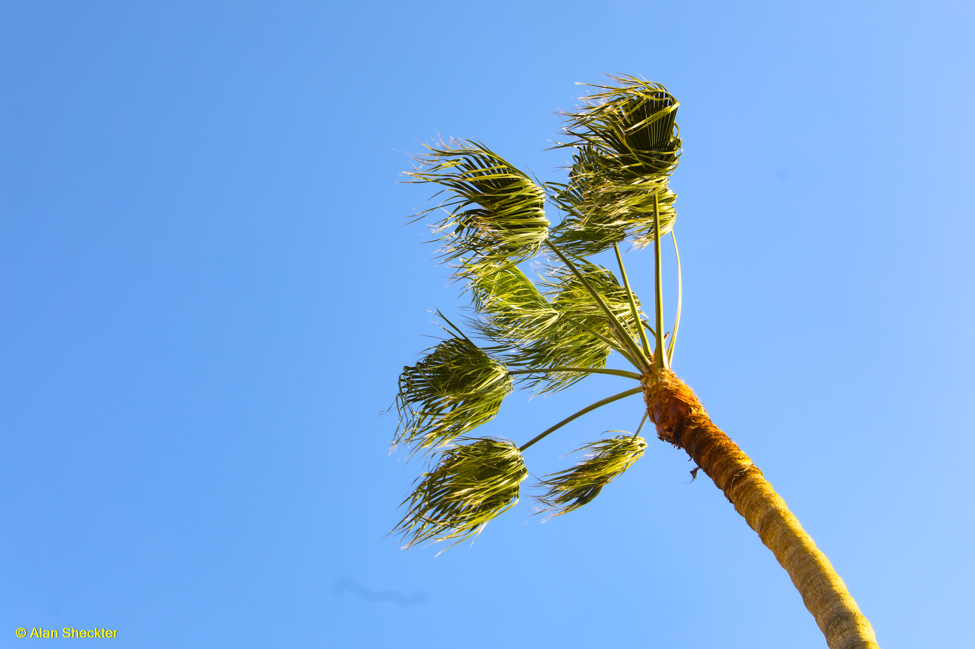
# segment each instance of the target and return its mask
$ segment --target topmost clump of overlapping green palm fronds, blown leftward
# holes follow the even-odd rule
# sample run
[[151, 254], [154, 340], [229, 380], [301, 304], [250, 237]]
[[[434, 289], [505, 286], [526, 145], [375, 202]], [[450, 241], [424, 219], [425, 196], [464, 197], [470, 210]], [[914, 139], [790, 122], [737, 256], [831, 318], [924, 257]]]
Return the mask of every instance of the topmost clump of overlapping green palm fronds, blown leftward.
[[[657, 236], [649, 216], [660, 210], [660, 234], [673, 227], [677, 195], [670, 174], [681, 156], [677, 99], [660, 84], [610, 77], [621, 87], [582, 97], [583, 108], [565, 112], [573, 139], [568, 184], [549, 183], [565, 218], [553, 241], [574, 254], [593, 254], [624, 240], [637, 246]], [[654, 208], [654, 199], [657, 208]]]

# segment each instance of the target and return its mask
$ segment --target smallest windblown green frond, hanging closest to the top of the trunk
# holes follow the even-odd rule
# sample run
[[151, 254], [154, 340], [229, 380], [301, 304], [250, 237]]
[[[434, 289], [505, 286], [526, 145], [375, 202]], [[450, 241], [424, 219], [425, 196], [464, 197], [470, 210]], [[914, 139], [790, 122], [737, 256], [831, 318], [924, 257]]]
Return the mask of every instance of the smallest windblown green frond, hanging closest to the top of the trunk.
[[[618, 431], [612, 431], [618, 432]], [[646, 440], [632, 435], [600, 439], [579, 450], [589, 449], [585, 460], [570, 469], [546, 476], [538, 486], [546, 493], [538, 500], [548, 505], [544, 511], [563, 515], [577, 510], [599, 495], [603, 487], [640, 459]]]

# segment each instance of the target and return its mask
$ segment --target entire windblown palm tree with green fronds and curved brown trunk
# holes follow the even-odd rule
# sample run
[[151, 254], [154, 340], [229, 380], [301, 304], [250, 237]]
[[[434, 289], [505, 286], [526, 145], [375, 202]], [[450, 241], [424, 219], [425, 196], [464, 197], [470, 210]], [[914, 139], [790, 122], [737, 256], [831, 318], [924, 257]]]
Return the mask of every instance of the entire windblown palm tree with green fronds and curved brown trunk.
[[[441, 314], [448, 337], [400, 376], [396, 443], [431, 452], [430, 470], [404, 501], [394, 531], [406, 547], [425, 541], [454, 545], [479, 534], [511, 509], [527, 477], [524, 451], [587, 412], [643, 395], [657, 438], [683, 448], [722, 489], [735, 510], [789, 573], [832, 649], [878, 647], [829, 559], [761, 471], [708, 417], [694, 393], [671, 370], [681, 318], [664, 331], [661, 237], [674, 237], [676, 195], [668, 187], [681, 155], [675, 123], [678, 101], [663, 86], [630, 76], [610, 77], [581, 106], [565, 112], [573, 150], [566, 183], [539, 183], [484, 144], [451, 141], [417, 158], [412, 182], [434, 183], [447, 199], [419, 217], [440, 214], [441, 258], [472, 298], [475, 316], [464, 330]], [[552, 225], [546, 200], [563, 216]], [[653, 320], [630, 287], [620, 245], [652, 246]], [[593, 261], [612, 251], [619, 275]], [[539, 258], [544, 279], [520, 266]], [[610, 257], [611, 258], [611, 257]], [[650, 340], [652, 339], [652, 345]], [[611, 353], [633, 371], [607, 368]], [[518, 445], [475, 438], [471, 432], [497, 414], [515, 387], [536, 393], [564, 390], [588, 374], [612, 374], [637, 384], [566, 417]], [[633, 435], [587, 444], [586, 458], [541, 480], [545, 510], [563, 515], [595, 498], [642, 455]], [[620, 433], [620, 431], [613, 431]], [[582, 449], [580, 449], [582, 450]], [[695, 470], [696, 476], [696, 470]]]

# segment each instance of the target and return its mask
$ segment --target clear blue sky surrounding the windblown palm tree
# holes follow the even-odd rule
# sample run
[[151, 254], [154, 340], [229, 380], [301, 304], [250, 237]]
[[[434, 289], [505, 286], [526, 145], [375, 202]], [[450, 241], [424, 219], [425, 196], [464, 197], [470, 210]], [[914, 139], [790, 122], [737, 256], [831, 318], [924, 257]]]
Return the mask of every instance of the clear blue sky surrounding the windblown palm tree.
[[[682, 102], [676, 371], [884, 649], [971, 641], [971, 3], [19, 0], [0, 23], [0, 646], [824, 647], [663, 443], [570, 515], [524, 499], [440, 556], [384, 537], [422, 467], [378, 413], [460, 304], [404, 226], [408, 153], [476, 137], [557, 179], [554, 111], [604, 72]], [[515, 396], [484, 433], [617, 385]]]

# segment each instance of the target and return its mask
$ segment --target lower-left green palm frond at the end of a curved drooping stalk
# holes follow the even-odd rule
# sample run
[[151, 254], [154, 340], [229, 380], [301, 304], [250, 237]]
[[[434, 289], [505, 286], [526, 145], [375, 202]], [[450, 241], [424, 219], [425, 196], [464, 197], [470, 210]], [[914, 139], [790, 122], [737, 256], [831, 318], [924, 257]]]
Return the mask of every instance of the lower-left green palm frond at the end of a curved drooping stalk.
[[419, 478], [403, 505], [409, 512], [394, 532], [406, 548], [429, 541], [464, 539], [518, 502], [528, 475], [525, 461], [511, 439], [483, 438], [439, 453], [439, 462]]

